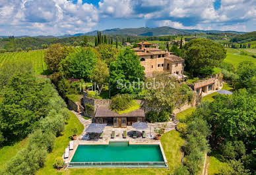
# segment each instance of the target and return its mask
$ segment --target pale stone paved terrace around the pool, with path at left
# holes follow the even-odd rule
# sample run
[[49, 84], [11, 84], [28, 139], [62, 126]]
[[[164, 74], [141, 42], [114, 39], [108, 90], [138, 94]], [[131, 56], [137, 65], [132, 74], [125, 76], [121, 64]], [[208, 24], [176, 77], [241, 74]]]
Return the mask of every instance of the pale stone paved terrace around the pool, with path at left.
[[[91, 138], [90, 136], [88, 136], [88, 133], [86, 132], [86, 128], [88, 128], [88, 126], [92, 123], [92, 120], [85, 120], [84, 118], [82, 118], [82, 116], [78, 113], [73, 111], [74, 114], [77, 115], [77, 117], [79, 118], [80, 122], [84, 125], [84, 132], [82, 132], [82, 134], [80, 134], [80, 136], [73, 141], [73, 145], [74, 145], [74, 149], [73, 150], [69, 150], [69, 157], [65, 159], [65, 162], [70, 164], [70, 162], [73, 160], [73, 157], [77, 151], [77, 149], [79, 148], [82, 149], [82, 146], [80, 145], [88, 145], [89, 147], [91, 145], [105, 145], [104, 147], [108, 147], [108, 145], [113, 144], [113, 143], [127, 143], [128, 145], [142, 145], [145, 146], [148, 145], [149, 147], [151, 147], [152, 145], [159, 145], [160, 150], [162, 152], [163, 155], [163, 159], [164, 159], [164, 164], [160, 163], [160, 162], [129, 162], [131, 163], [130, 165], [127, 165], [127, 162], [123, 162], [123, 166], [120, 164], [117, 164], [117, 166], [115, 167], [147, 167], [150, 166], [150, 164], [152, 165], [152, 163], [154, 165], [150, 166], [150, 167], [161, 167], [163, 168], [164, 166], [166, 166], [167, 161], [166, 161], [166, 157], [164, 155], [164, 151], [161, 145], [160, 140], [156, 139], [154, 136], [156, 135], [156, 133], [154, 132], [155, 128], [159, 128], [160, 125], [162, 124], [166, 124], [166, 130], [164, 132], [169, 132], [170, 130], [175, 130], [175, 126], [176, 124], [174, 122], [164, 122], [164, 123], [154, 123], [154, 124], [149, 124], [148, 123], [148, 128], [144, 129], [144, 132], [146, 134], [146, 137], [142, 137], [142, 130], [136, 130], [135, 128], [133, 128], [132, 126], [127, 126], [127, 128], [113, 128], [113, 126], [106, 126], [103, 130], [104, 135], [102, 137], [100, 137], [101, 134], [95, 134], [95, 136], [93, 138]], [[115, 132], [114, 137], [112, 137], [112, 132]], [[123, 133], [124, 131], [126, 131], [127, 136], [123, 137]], [[136, 131], [136, 135], [137, 137], [133, 137], [133, 132]], [[98, 146], [96, 146], [98, 147]], [[127, 149], [129, 149], [129, 146], [127, 147]], [[146, 148], [145, 148], [146, 149]], [[78, 154], [78, 153], [77, 153]], [[76, 155], [77, 157], [77, 155]], [[94, 167], [105, 167], [106, 164], [105, 162], [102, 162], [102, 164], [98, 164], [99, 162], [94, 162]], [[115, 162], [117, 163], [117, 162]], [[148, 164], [149, 163], [149, 164]], [[70, 168], [73, 167], [75, 163], [71, 163], [70, 164]], [[91, 164], [92, 165], [92, 164]], [[75, 164], [75, 166], [81, 166], [81, 167], [88, 167], [90, 165], [88, 165], [88, 162], [81, 162], [81, 164], [77, 165]], [[74, 167], [75, 167], [74, 166]], [[112, 166], [112, 164], [108, 163], [108, 166]]]

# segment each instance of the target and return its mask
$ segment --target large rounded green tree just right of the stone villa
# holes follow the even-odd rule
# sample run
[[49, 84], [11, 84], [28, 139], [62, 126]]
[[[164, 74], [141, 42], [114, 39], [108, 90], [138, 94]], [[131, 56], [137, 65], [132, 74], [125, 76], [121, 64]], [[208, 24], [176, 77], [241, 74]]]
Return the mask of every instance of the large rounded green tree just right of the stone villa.
[[186, 69], [191, 74], [212, 74], [214, 66], [226, 58], [226, 49], [208, 39], [192, 39], [184, 45]]

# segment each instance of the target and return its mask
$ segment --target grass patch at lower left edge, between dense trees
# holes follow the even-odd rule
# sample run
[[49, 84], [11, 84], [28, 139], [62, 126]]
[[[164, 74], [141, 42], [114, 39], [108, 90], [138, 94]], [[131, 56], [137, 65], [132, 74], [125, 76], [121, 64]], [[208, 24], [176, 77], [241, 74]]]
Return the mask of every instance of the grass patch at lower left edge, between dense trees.
[[13, 145], [5, 146], [0, 149], [0, 169], [5, 168], [5, 163], [12, 157], [15, 157], [16, 153], [26, 146], [28, 138], [22, 139], [22, 141], [16, 142]]

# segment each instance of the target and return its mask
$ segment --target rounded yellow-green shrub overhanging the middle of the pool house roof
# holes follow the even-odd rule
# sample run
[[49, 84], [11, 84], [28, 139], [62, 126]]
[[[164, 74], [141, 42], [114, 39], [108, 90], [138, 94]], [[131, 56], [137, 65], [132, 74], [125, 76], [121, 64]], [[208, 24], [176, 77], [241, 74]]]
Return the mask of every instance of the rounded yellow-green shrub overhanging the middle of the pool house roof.
[[131, 105], [133, 104], [132, 101], [133, 98], [131, 97], [131, 95], [117, 94], [112, 98], [110, 109], [113, 111], [123, 111], [131, 107]]

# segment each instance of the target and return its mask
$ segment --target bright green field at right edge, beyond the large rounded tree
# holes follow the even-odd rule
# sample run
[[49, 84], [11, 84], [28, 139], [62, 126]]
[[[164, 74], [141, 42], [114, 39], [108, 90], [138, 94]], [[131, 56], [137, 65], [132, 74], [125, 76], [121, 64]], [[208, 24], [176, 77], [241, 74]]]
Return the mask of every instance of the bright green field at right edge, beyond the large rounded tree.
[[[239, 63], [242, 61], [252, 61], [256, 64], [256, 59], [249, 56], [249, 55], [240, 55], [239, 49], [232, 49], [232, 48], [226, 48], [227, 49], [227, 57], [224, 59], [224, 62], [226, 63], [232, 63], [235, 67], [238, 66]], [[256, 49], [250, 49], [250, 52], [252, 53]]]

